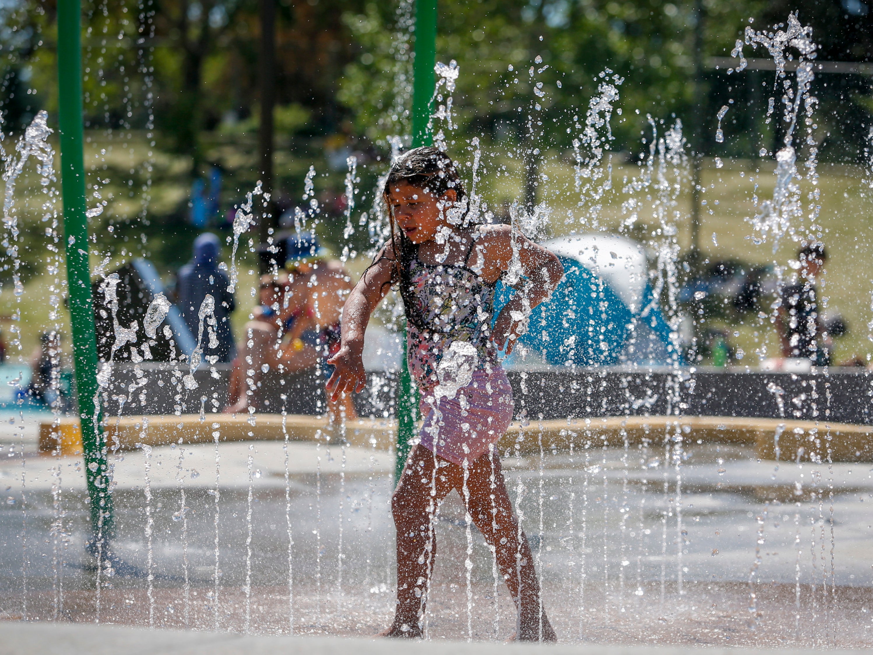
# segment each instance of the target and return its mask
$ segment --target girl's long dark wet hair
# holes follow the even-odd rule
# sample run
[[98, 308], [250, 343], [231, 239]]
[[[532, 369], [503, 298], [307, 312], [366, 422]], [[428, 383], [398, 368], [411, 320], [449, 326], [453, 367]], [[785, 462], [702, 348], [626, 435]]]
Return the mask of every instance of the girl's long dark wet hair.
[[[388, 171], [382, 193], [387, 197], [392, 188], [401, 182], [427, 191], [436, 198], [441, 198], [450, 189], [457, 194], [457, 201], [463, 201], [466, 195], [464, 182], [457, 174], [455, 162], [448, 154], [431, 146], [412, 148], [400, 155]], [[394, 254], [394, 273], [391, 282], [397, 283], [400, 287], [407, 321], [415, 325], [418, 330], [425, 330], [424, 317], [417, 309], [415, 297], [412, 295], [412, 282], [409, 279], [409, 263], [416, 255], [418, 247], [409, 241], [402, 230], [396, 229], [394, 213], [390, 207], [388, 207], [388, 219], [391, 226], [390, 248]], [[383, 249], [379, 259], [384, 256], [384, 252]]]

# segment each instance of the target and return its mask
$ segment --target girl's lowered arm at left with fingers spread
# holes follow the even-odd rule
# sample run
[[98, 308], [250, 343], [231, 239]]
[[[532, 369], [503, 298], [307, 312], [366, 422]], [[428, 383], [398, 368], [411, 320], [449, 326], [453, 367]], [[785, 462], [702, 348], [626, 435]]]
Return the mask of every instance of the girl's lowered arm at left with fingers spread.
[[364, 332], [370, 314], [391, 290], [391, 280], [395, 268], [393, 249], [388, 242], [375, 262], [364, 271], [361, 280], [355, 284], [342, 308], [340, 350], [327, 360], [333, 365], [333, 374], [327, 380], [327, 391], [333, 400], [340, 398], [342, 392], [361, 392], [367, 382], [364, 372], [363, 351]]

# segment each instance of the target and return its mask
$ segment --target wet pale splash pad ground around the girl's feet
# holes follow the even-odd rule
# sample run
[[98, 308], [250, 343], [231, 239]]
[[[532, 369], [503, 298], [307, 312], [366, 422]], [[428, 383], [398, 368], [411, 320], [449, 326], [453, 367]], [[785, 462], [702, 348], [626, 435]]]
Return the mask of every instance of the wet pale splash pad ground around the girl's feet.
[[[152, 447], [150, 502], [145, 453], [120, 451], [113, 555], [125, 567], [102, 577], [98, 606], [93, 559], [83, 548], [89, 523], [82, 465], [76, 456], [38, 456], [39, 418], [15, 431], [4, 426], [2, 436], [4, 447], [20, 448], [24, 435], [28, 457], [24, 468], [18, 457], [0, 464], [5, 495], [15, 501], [0, 511], [0, 617], [76, 623], [99, 617], [258, 635], [288, 634], [293, 625], [299, 635], [342, 637], [368, 636], [388, 623], [394, 589], [388, 451], [290, 441], [286, 484], [284, 441], [220, 443], [217, 521], [213, 444]], [[870, 647], [873, 603], [862, 586], [873, 567], [870, 464], [777, 467], [759, 461], [751, 443], [689, 443], [686, 452], [679, 495], [676, 469], [663, 467], [663, 447], [546, 448], [541, 457], [538, 451], [505, 458], [507, 486], [520, 495], [546, 607], [562, 640]], [[58, 488], [63, 530], [52, 510]], [[150, 583], [147, 515], [154, 520]], [[464, 639], [467, 539], [457, 495], [438, 519], [429, 633]], [[504, 640], [513, 631], [511, 601], [501, 585], [495, 595], [491, 554], [475, 529], [471, 547], [470, 636]]]

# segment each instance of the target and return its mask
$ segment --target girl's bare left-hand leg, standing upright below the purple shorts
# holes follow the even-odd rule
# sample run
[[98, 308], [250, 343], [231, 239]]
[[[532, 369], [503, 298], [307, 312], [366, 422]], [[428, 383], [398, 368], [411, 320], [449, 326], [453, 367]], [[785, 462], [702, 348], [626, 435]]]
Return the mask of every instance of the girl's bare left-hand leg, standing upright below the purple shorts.
[[[449, 464], [438, 471], [434, 454], [418, 445], [412, 449], [400, 482], [391, 497], [397, 529], [397, 609], [385, 637], [421, 637], [418, 619], [424, 611], [427, 583], [436, 557], [433, 516], [436, 505], [451, 491], [443, 472], [459, 467]], [[446, 463], [442, 458], [436, 461]], [[436, 473], [436, 476], [435, 476]], [[436, 496], [431, 495], [435, 488]]]

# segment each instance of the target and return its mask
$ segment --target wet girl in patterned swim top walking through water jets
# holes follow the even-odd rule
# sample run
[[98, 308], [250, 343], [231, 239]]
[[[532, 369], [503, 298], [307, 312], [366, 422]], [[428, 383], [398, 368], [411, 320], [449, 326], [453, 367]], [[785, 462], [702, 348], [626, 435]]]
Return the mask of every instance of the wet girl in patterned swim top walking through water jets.
[[[395, 162], [383, 191], [391, 239], [349, 295], [340, 350], [327, 389], [361, 392], [361, 352], [370, 314], [390, 287], [407, 317], [409, 369], [421, 392], [420, 443], [391, 499], [397, 529], [397, 605], [386, 637], [418, 638], [436, 556], [436, 507], [457, 489], [496, 549], [518, 611], [517, 637], [554, 641], [525, 533], [512, 515], [494, 444], [512, 421], [512, 388], [500, 367], [526, 316], [558, 285], [558, 258], [507, 225], [470, 224], [454, 162], [419, 147]], [[514, 254], [514, 257], [513, 257]], [[520, 270], [519, 270], [520, 265]], [[493, 329], [494, 288], [506, 271], [526, 277]]]

